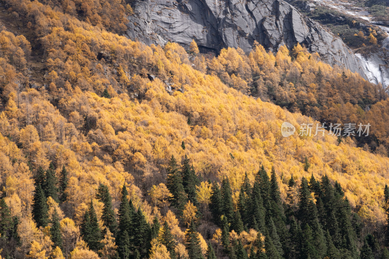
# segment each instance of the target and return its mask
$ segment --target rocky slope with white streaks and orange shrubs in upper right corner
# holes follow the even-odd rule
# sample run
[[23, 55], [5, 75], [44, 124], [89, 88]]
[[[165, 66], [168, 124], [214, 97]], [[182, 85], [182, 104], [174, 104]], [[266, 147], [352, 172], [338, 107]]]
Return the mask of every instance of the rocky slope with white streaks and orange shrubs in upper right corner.
[[[334, 34], [342, 37], [363, 63], [370, 82], [384, 87], [389, 86], [388, 21], [383, 21], [382, 16], [374, 16], [381, 13], [369, 12], [371, 8], [361, 6], [357, 1], [289, 0], [288, 2], [296, 5], [307, 16], [326, 24]], [[385, 10], [385, 6], [381, 9]]]

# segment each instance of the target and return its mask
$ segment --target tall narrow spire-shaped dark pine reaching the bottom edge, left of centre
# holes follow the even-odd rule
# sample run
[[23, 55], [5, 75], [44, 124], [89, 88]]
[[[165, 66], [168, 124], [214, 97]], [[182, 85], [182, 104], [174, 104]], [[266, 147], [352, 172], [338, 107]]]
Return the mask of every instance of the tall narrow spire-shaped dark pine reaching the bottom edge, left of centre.
[[[123, 185], [122, 188], [122, 199], [119, 207], [119, 226], [116, 234], [116, 245], [118, 246], [117, 251], [119, 258], [129, 259], [130, 258], [130, 236], [128, 231], [132, 231], [130, 203], [127, 199], [127, 188]], [[133, 232], [131, 232], [133, 233]]]

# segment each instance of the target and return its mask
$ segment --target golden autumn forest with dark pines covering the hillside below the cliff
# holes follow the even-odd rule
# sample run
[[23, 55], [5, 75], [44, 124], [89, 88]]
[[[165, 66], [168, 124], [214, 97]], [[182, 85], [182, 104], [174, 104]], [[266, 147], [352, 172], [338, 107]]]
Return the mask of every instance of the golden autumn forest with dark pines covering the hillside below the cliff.
[[0, 0], [0, 259], [389, 259], [382, 85], [300, 44], [148, 46], [132, 13]]

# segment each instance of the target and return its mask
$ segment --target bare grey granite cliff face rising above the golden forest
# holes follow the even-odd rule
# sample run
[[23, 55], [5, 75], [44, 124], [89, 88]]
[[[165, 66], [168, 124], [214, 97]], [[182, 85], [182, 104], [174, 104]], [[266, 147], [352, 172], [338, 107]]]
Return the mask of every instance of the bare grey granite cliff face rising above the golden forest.
[[283, 0], [135, 0], [127, 36], [146, 44], [168, 41], [200, 51], [226, 47], [252, 49], [254, 41], [267, 50], [298, 42], [323, 61], [345, 66], [367, 78], [365, 69], [341, 39]]

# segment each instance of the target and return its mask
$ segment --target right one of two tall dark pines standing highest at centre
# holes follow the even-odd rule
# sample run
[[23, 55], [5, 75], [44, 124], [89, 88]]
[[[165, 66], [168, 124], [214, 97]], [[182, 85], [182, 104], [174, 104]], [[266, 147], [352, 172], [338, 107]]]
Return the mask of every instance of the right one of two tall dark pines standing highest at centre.
[[188, 195], [188, 200], [198, 206], [196, 186], [200, 184], [200, 181], [197, 178], [195, 168], [191, 166], [190, 162], [188, 156], [185, 155], [181, 166], [182, 186]]

